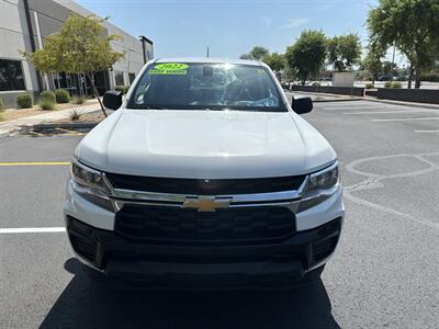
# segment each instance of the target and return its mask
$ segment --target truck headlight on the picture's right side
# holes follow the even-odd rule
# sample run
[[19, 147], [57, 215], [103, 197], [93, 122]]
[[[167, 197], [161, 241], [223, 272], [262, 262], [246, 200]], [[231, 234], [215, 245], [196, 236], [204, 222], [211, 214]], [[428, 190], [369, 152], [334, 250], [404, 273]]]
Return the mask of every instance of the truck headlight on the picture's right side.
[[309, 174], [297, 212], [306, 211], [330, 197], [335, 192], [338, 179], [338, 162]]

